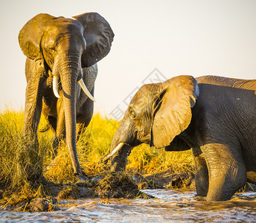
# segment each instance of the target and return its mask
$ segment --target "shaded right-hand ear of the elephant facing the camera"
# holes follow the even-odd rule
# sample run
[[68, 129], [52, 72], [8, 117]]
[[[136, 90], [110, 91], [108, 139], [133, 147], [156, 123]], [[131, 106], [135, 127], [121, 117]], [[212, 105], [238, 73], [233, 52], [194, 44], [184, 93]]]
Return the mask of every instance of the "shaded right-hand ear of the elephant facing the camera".
[[83, 25], [86, 51], [82, 55], [82, 67], [89, 67], [109, 54], [114, 33], [106, 20], [98, 13], [74, 16]]

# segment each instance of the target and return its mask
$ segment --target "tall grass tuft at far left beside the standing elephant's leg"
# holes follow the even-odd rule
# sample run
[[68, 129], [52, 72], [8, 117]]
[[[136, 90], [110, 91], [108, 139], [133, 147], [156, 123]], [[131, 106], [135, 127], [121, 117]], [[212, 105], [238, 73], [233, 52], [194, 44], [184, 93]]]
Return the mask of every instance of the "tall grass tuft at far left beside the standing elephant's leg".
[[24, 112], [5, 110], [0, 114], [0, 183], [12, 189], [42, 178], [49, 143], [26, 140], [22, 135]]

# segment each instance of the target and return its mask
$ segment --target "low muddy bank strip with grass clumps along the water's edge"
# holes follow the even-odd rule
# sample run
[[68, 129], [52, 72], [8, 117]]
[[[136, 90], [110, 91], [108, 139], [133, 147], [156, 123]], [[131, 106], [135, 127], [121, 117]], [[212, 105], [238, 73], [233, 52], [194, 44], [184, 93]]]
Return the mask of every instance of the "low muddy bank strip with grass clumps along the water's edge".
[[[73, 181], [66, 184], [54, 184], [41, 181], [32, 187], [21, 190], [0, 190], [0, 209], [9, 211], [52, 211], [59, 210], [61, 200], [81, 198], [103, 198], [108, 202], [112, 198], [153, 198], [142, 193], [143, 189], [180, 188], [194, 190], [193, 178], [185, 173], [173, 174], [170, 171], [156, 175], [129, 175], [127, 172], [106, 172], [105, 176], [96, 176], [89, 181]], [[37, 189], [36, 193], [32, 188]]]

